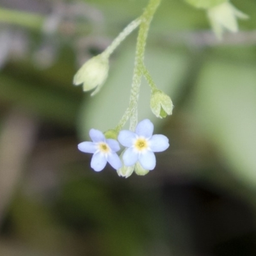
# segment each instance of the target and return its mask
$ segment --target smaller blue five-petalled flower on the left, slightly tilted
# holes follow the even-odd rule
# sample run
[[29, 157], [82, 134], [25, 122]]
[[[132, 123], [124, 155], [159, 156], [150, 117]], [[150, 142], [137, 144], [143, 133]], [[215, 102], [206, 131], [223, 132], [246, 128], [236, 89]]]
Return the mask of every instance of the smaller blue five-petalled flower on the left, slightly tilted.
[[84, 141], [78, 144], [78, 149], [84, 153], [92, 153], [91, 167], [95, 172], [100, 172], [106, 166], [107, 162], [114, 168], [119, 169], [122, 162], [116, 152], [120, 150], [118, 141], [106, 139], [104, 134], [95, 129], [90, 132], [91, 141]]

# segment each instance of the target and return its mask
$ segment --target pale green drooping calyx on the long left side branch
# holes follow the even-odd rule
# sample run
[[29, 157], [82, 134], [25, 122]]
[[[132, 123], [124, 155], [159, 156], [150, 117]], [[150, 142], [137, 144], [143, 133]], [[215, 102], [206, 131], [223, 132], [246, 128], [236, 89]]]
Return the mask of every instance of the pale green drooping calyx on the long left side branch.
[[84, 63], [74, 76], [73, 83], [74, 85], [83, 83], [84, 92], [96, 88], [92, 93], [93, 96], [99, 92], [106, 81], [106, 78], [108, 77], [108, 69], [108, 58], [104, 54], [99, 54]]

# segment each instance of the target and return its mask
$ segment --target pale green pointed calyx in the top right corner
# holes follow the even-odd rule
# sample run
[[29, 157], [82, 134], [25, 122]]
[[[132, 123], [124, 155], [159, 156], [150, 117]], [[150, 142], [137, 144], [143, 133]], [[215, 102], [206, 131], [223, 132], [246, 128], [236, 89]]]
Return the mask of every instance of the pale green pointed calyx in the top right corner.
[[248, 19], [248, 15], [237, 10], [228, 1], [209, 8], [207, 15], [215, 35], [220, 39], [225, 29], [233, 33], [238, 31], [237, 18]]

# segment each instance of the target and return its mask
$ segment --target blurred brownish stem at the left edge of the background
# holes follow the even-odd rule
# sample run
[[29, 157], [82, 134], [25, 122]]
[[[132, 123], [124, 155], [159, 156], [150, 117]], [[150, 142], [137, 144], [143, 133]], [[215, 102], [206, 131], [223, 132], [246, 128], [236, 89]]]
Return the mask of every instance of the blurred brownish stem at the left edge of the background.
[[35, 145], [35, 118], [15, 108], [2, 119], [0, 136], [0, 226], [24, 164]]

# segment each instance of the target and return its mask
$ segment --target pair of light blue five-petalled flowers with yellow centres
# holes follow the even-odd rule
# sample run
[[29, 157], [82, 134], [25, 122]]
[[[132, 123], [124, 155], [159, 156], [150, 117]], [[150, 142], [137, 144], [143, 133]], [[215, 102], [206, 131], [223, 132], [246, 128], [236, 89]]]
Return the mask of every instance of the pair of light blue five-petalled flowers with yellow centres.
[[[154, 134], [154, 125], [145, 119], [138, 123], [135, 132], [123, 130], [118, 134], [118, 141], [126, 147], [123, 161], [125, 166], [132, 166], [137, 161], [145, 170], [156, 167], [154, 152], [162, 152], [169, 147], [169, 140], [162, 134]], [[114, 169], [122, 167], [122, 161], [116, 154], [120, 150], [118, 141], [106, 139], [104, 134], [96, 129], [91, 129], [92, 141], [79, 143], [78, 149], [84, 153], [91, 153], [91, 167], [95, 172], [100, 172], [109, 163]]]

